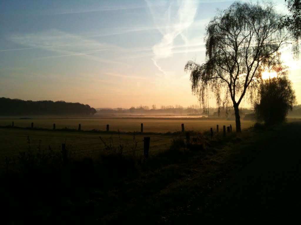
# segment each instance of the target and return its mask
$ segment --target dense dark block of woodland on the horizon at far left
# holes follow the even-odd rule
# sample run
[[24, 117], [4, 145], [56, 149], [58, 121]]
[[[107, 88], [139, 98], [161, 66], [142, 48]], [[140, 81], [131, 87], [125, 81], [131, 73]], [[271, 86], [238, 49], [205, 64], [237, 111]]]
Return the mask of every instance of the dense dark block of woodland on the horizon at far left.
[[24, 101], [0, 98], [0, 115], [94, 115], [89, 105], [64, 101]]

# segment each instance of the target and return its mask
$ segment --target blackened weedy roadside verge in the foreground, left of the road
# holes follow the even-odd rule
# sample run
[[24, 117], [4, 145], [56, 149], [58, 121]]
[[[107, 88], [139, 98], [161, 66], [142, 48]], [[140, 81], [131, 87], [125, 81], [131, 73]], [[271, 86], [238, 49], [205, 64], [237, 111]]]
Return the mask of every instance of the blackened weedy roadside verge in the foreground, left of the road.
[[[197, 210], [195, 203], [281, 134], [256, 125], [241, 134], [179, 134], [164, 152], [146, 160], [133, 143], [106, 144], [105, 153], [76, 157], [31, 148], [7, 159], [0, 177], [12, 224], [169, 223]], [[260, 147], [259, 147], [260, 146]], [[126, 150], [127, 148], [127, 150]], [[62, 150], [62, 149], [61, 149]], [[64, 154], [63, 154], [64, 155]]]

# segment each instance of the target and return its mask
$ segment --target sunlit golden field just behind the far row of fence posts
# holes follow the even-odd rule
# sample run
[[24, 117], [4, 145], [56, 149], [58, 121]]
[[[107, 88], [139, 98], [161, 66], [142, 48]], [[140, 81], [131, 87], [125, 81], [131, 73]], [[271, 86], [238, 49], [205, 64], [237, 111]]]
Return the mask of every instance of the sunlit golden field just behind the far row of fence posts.
[[[144, 132], [154, 133], [167, 133], [181, 131], [181, 124], [184, 123], [185, 130], [189, 131], [209, 131], [210, 127], [216, 128], [218, 124], [222, 129], [223, 125], [230, 126], [235, 129], [235, 121], [227, 119], [182, 119], [182, 118], [171, 118], [171, 119], [117, 119], [117, 118], [79, 118], [79, 119], [0, 119], [0, 126], [11, 125], [14, 121], [14, 126], [17, 127], [30, 127], [33, 122], [34, 127], [52, 129], [55, 123], [57, 129], [70, 128], [77, 129], [78, 125], [81, 124], [82, 130], [100, 130], [106, 131], [106, 125], [110, 125], [110, 131], [121, 131], [121, 132], [140, 132], [140, 125], [143, 123]], [[241, 128], [248, 128], [253, 125], [253, 121], [242, 120]]]

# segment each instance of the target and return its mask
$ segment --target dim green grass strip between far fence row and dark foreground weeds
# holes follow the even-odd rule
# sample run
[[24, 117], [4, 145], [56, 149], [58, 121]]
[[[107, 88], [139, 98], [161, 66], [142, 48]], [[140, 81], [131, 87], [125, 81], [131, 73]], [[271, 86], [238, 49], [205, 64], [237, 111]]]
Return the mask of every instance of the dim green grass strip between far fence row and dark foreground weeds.
[[[2, 144], [0, 146], [0, 158], [5, 156], [16, 156], [20, 151], [27, 151], [29, 147], [32, 150], [47, 150], [49, 146], [53, 150], [60, 150], [62, 143], [78, 156], [93, 156], [95, 153], [105, 152], [105, 144], [109, 146], [110, 139], [117, 148], [120, 144], [124, 146], [124, 153], [132, 151], [133, 145], [137, 143], [137, 153], [143, 150], [143, 134], [92, 134], [82, 132], [63, 132], [63, 131], [40, 131], [30, 129], [7, 129], [0, 128]], [[151, 154], [160, 152], [169, 147], [174, 135], [148, 135], [151, 137]], [[100, 140], [102, 138], [103, 141]], [[135, 140], [134, 140], [135, 137]], [[111, 142], [112, 145], [112, 142]]]

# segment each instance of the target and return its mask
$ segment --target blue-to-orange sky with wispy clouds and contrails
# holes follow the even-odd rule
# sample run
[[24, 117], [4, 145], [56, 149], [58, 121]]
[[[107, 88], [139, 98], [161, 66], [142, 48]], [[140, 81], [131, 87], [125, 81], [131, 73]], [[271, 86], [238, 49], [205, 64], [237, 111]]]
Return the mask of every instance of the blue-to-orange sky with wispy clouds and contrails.
[[[94, 108], [198, 104], [184, 66], [204, 61], [206, 24], [233, 2], [2, 0], [0, 97]], [[274, 2], [286, 12], [284, 0]], [[282, 56], [301, 104], [301, 61]]]

